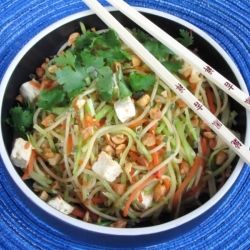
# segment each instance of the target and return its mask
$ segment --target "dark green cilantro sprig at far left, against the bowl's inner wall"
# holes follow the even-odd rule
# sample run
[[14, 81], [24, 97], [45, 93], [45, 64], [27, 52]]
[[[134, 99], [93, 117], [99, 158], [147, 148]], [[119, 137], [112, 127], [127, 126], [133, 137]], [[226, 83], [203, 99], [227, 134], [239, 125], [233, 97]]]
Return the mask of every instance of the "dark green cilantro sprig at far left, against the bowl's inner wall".
[[20, 106], [14, 107], [10, 110], [7, 123], [14, 128], [16, 133], [24, 137], [33, 125], [33, 111]]

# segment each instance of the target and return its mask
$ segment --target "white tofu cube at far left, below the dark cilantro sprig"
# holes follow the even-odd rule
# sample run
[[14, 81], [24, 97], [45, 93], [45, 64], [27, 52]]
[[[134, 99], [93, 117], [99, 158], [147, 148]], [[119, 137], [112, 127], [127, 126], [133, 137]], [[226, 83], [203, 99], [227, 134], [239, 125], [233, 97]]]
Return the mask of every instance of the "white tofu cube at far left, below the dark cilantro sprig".
[[15, 140], [10, 159], [15, 166], [25, 169], [29, 163], [31, 153], [31, 144], [22, 138], [17, 138]]

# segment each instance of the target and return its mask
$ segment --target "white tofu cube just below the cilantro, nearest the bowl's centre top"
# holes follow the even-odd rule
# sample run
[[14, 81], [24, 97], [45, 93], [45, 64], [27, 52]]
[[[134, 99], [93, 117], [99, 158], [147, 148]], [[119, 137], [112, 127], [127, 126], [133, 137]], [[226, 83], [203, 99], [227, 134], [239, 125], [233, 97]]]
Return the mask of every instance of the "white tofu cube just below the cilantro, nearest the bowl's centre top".
[[121, 122], [126, 122], [136, 115], [135, 104], [130, 97], [115, 102], [114, 108]]

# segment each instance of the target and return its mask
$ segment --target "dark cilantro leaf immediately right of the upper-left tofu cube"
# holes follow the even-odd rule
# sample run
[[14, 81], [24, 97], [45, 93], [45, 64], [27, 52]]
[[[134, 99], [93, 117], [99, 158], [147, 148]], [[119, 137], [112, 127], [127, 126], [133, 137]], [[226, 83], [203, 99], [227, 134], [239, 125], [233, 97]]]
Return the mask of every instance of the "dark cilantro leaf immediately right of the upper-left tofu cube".
[[42, 90], [37, 105], [45, 110], [53, 107], [65, 106], [67, 104], [66, 94], [62, 88], [57, 87], [52, 90]]

